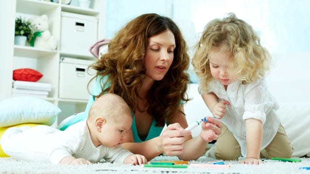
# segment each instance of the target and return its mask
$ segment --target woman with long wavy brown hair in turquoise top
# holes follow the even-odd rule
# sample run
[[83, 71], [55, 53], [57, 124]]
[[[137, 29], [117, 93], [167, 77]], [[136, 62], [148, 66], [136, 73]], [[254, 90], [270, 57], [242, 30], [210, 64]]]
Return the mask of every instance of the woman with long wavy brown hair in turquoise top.
[[[115, 93], [133, 112], [131, 131], [123, 144], [126, 149], [148, 160], [162, 153], [181, 160], [198, 159], [208, 142], [217, 139], [222, 124], [207, 117], [196, 138], [184, 130], [183, 105], [189, 101], [186, 51], [185, 40], [170, 18], [142, 14], [133, 19], [110, 41], [107, 54], [91, 66], [97, 71], [92, 96], [85, 113], [75, 119], [86, 119], [99, 96]], [[160, 135], [165, 124], [167, 129]]]

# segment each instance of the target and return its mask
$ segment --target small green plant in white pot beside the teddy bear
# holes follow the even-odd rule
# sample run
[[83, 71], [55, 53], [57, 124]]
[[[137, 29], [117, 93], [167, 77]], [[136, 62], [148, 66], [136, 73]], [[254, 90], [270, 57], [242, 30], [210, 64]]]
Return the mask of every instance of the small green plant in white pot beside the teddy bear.
[[21, 16], [15, 19], [15, 40], [16, 45], [25, 45], [26, 41], [30, 41], [32, 35], [31, 23], [29, 20]]

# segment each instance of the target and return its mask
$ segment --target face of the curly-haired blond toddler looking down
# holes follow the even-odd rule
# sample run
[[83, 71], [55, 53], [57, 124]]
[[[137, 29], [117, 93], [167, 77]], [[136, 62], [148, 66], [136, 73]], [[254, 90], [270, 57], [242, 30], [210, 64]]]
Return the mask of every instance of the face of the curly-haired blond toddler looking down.
[[220, 49], [211, 51], [209, 63], [213, 78], [220, 81], [225, 87], [237, 80], [228, 72], [229, 56], [224, 51]]

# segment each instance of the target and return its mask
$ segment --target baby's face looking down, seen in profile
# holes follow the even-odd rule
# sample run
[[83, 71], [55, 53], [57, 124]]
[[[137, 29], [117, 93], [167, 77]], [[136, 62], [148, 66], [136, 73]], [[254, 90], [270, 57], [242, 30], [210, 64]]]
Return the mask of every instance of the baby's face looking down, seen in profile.
[[132, 117], [116, 116], [116, 119], [109, 118], [98, 133], [98, 140], [106, 147], [117, 147], [124, 143], [127, 131], [131, 129]]

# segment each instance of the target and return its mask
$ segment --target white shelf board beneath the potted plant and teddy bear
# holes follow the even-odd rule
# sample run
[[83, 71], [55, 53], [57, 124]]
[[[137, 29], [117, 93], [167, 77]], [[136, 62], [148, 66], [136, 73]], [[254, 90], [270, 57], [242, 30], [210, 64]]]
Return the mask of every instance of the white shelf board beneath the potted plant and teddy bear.
[[57, 51], [49, 51], [45, 49], [39, 49], [31, 46], [19, 46], [14, 45], [14, 56], [28, 57], [28, 58], [40, 58], [48, 55], [56, 54]]

